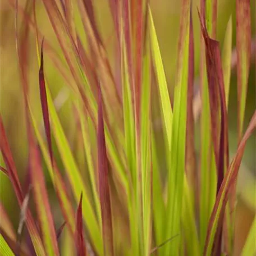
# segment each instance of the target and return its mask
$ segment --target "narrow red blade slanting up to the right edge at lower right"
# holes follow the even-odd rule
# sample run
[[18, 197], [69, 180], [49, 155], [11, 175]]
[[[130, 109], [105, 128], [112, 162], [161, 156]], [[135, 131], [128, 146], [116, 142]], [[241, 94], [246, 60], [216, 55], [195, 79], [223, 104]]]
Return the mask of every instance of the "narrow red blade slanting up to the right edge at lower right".
[[218, 192], [216, 203], [214, 204], [214, 208], [211, 214], [211, 218], [209, 220], [207, 237], [204, 246], [204, 255], [211, 255], [212, 253], [212, 245], [214, 236], [216, 234], [216, 230], [218, 226], [220, 226], [220, 219], [223, 216], [225, 211], [225, 205], [228, 200], [228, 194], [230, 193], [230, 189], [235, 184], [237, 175], [239, 172], [239, 167], [243, 158], [244, 149], [246, 145], [246, 141], [249, 139], [250, 135], [253, 134], [253, 131], [256, 129], [256, 111], [250, 121], [250, 124], [244, 134], [243, 139], [241, 139], [239, 143], [239, 147], [236, 151], [236, 155], [228, 167], [228, 171], [222, 181], [220, 191]]

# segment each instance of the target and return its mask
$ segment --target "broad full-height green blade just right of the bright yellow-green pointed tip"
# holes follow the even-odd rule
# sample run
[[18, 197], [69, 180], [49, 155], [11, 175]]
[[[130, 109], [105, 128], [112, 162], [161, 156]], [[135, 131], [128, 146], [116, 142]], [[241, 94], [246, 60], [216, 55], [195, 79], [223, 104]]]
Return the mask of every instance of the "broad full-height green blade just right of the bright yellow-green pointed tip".
[[[189, 73], [190, 1], [181, 3], [180, 35], [177, 59], [177, 81], [172, 120], [171, 168], [168, 170], [166, 239], [180, 233], [182, 194], [184, 190], [186, 116]], [[181, 238], [165, 246], [166, 255], [179, 254]]]

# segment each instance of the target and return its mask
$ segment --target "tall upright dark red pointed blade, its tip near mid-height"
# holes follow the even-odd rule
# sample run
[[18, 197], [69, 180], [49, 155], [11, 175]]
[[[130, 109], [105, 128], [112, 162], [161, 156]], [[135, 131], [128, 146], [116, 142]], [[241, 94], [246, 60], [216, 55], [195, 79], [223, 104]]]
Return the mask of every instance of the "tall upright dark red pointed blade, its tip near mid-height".
[[104, 254], [113, 254], [113, 230], [111, 216], [111, 201], [108, 184], [108, 159], [106, 141], [104, 135], [104, 120], [102, 109], [102, 94], [100, 84], [98, 85], [98, 176], [99, 176], [99, 199], [102, 214], [102, 235], [104, 241]]

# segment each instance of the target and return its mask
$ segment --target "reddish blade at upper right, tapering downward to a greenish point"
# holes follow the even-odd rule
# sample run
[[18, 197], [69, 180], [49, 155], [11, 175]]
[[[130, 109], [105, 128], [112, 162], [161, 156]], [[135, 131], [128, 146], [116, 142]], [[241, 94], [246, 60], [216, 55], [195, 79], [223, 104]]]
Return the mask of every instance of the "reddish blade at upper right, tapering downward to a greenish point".
[[239, 141], [241, 140], [243, 134], [244, 112], [250, 69], [250, 52], [252, 41], [250, 20], [250, 0], [236, 0], [237, 121]]

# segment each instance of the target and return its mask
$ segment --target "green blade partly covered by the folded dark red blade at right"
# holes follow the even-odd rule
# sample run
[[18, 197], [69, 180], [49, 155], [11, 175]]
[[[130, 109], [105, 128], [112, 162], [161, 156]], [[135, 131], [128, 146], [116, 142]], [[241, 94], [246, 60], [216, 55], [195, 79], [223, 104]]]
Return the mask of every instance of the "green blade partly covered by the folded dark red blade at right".
[[[207, 29], [209, 35], [214, 38], [216, 34], [216, 17], [213, 13], [213, 1], [200, 1], [200, 15], [202, 22]], [[216, 15], [216, 13], [215, 13]], [[212, 208], [216, 199], [217, 189], [217, 170], [213, 152], [213, 142], [211, 138], [211, 112], [209, 104], [209, 86], [207, 80], [207, 71], [205, 65], [205, 44], [203, 34], [200, 38], [200, 94], [202, 95], [202, 114], [200, 118], [200, 245], [201, 253], [203, 253], [205, 237], [207, 233], [207, 225], [211, 216]]]

